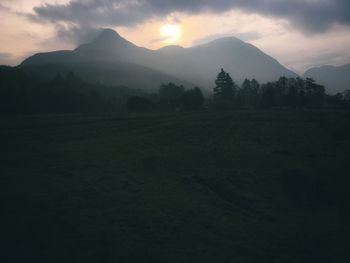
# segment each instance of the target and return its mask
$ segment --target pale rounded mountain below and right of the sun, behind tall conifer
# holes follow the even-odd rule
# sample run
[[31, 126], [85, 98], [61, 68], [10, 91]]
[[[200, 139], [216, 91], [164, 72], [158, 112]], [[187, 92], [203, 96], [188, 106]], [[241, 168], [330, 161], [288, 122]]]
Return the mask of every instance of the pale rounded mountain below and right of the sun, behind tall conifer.
[[267, 82], [280, 76], [296, 76], [253, 45], [234, 37], [192, 48], [165, 47], [156, 52], [156, 58], [153, 67], [207, 88], [212, 88], [220, 68], [225, 68], [239, 84], [245, 78]]

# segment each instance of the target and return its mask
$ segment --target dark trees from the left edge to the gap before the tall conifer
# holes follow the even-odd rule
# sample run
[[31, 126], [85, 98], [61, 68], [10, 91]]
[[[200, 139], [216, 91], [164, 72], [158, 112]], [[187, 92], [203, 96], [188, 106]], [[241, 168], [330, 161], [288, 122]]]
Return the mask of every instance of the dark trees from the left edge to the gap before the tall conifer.
[[157, 93], [91, 84], [73, 72], [39, 81], [21, 68], [0, 67], [0, 113], [187, 111], [203, 107], [199, 88], [162, 84]]

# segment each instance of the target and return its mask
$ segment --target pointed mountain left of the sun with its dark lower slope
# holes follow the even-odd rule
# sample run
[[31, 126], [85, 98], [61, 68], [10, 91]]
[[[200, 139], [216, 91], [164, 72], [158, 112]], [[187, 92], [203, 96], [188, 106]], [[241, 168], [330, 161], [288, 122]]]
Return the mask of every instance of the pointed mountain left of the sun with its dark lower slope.
[[[193, 84], [166, 73], [142, 66], [136, 57], [151, 52], [105, 29], [91, 43], [75, 50], [35, 54], [24, 60], [20, 67], [41, 79], [52, 79], [57, 72], [73, 71], [80, 78], [107, 85], [124, 85], [133, 89], [158, 90], [161, 83], [174, 82], [185, 86]], [[134, 59], [133, 59], [134, 58]], [[136, 62], [136, 63], [133, 63]]]

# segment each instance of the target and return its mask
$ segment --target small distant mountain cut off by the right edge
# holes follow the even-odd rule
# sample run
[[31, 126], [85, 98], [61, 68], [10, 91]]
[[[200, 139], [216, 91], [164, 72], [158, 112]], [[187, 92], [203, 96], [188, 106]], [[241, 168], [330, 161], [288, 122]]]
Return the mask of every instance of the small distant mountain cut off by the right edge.
[[303, 77], [313, 78], [325, 85], [328, 93], [343, 92], [350, 89], [350, 64], [340, 67], [323, 66], [311, 68], [304, 73]]

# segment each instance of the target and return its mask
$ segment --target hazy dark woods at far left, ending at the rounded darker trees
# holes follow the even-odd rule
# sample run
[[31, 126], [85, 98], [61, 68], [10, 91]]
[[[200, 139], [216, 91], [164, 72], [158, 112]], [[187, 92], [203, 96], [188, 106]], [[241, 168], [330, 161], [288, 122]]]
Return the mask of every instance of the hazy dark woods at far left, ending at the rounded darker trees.
[[126, 112], [127, 98], [144, 96], [125, 86], [91, 84], [73, 72], [40, 81], [21, 68], [0, 67], [0, 113]]

